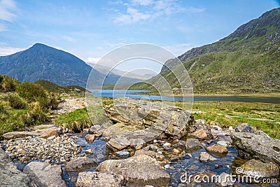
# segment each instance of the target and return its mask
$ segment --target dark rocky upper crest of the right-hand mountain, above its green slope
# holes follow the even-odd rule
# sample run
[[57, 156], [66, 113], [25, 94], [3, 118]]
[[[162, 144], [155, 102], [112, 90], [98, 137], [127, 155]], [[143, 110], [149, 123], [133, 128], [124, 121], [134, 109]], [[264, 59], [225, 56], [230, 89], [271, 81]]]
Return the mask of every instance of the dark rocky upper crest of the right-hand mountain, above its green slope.
[[[226, 36], [224, 39], [205, 46], [192, 48], [186, 53], [183, 53], [178, 58], [181, 62], [186, 62], [199, 55], [212, 53], [216, 51], [232, 52], [238, 49], [240, 44], [248, 43], [255, 37], [263, 37], [266, 42], [280, 41], [280, 8], [274, 8], [272, 11], [267, 11], [260, 18], [251, 20], [244, 25], [238, 27], [235, 32]], [[250, 40], [251, 39], [251, 40]], [[239, 45], [235, 45], [239, 42]], [[232, 45], [231, 45], [232, 44]], [[178, 60], [167, 60], [165, 66], [162, 67], [160, 74], [167, 72], [169, 69], [176, 67], [180, 62]]]

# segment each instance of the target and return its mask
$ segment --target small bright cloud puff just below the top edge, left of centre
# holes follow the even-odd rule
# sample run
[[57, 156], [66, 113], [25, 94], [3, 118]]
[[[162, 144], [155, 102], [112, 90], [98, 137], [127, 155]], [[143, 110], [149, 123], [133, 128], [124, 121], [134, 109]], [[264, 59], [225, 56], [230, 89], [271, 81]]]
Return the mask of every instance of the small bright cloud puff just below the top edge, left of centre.
[[121, 14], [118, 18], [116, 18], [115, 21], [122, 22], [125, 24], [130, 24], [130, 23], [136, 23], [136, 22], [147, 20], [150, 17], [151, 15], [148, 15], [146, 13], [139, 13], [137, 9], [127, 8], [127, 13]]

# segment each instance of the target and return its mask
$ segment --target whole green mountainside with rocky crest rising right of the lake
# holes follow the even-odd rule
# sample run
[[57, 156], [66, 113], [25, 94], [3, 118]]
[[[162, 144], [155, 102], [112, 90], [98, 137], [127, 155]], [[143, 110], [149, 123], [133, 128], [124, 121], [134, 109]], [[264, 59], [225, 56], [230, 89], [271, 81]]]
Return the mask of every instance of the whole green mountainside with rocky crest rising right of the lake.
[[[197, 94], [280, 92], [280, 8], [268, 11], [215, 43], [188, 50], [178, 58]], [[167, 60], [160, 74], [172, 88], [180, 86]], [[154, 83], [157, 78], [149, 80]]]

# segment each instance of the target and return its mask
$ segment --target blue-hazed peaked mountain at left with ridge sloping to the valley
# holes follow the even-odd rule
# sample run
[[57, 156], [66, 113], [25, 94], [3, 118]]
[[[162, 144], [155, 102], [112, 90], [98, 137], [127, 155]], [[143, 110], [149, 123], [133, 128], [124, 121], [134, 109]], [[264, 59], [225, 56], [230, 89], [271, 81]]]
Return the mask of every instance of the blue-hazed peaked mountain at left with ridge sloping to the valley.
[[[92, 87], [114, 84], [120, 79], [115, 74], [102, 74], [78, 57], [42, 43], [36, 43], [13, 55], [0, 57], [0, 74], [13, 76], [21, 82], [46, 80], [57, 85], [79, 85], [85, 88], [90, 73], [94, 77], [94, 80], [89, 81]], [[138, 81], [141, 80], [121, 78], [120, 83]]]

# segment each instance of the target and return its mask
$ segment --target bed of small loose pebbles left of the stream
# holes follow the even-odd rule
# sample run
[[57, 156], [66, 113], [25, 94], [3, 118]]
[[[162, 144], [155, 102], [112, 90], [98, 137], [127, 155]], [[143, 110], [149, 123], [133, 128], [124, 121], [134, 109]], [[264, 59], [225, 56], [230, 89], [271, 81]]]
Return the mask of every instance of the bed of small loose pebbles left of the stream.
[[71, 137], [49, 137], [48, 139], [24, 137], [2, 143], [6, 152], [10, 150], [10, 158], [23, 163], [40, 159], [55, 163], [66, 162], [80, 153], [79, 145]]

